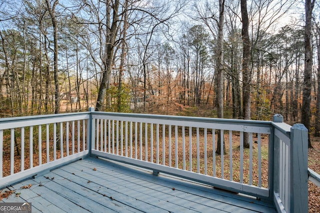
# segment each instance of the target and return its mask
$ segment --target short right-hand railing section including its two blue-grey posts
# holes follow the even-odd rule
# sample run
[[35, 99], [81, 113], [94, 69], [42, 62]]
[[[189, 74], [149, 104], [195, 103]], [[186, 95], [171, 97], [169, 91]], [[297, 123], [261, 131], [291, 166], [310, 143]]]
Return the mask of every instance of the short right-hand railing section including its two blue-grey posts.
[[307, 129], [274, 116], [273, 202], [278, 212], [308, 211]]

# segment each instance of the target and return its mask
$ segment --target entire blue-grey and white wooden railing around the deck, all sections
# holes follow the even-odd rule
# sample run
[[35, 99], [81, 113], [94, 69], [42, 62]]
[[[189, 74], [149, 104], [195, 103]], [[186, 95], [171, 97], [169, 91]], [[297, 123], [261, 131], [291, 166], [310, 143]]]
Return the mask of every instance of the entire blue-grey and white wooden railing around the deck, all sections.
[[[218, 145], [222, 155], [215, 152]], [[163, 172], [255, 196], [273, 202], [278, 212], [303, 212], [306, 146], [304, 126], [286, 125], [278, 115], [267, 122], [91, 108], [83, 113], [6, 118], [0, 119], [0, 188], [96, 156], [147, 168], [155, 175]]]

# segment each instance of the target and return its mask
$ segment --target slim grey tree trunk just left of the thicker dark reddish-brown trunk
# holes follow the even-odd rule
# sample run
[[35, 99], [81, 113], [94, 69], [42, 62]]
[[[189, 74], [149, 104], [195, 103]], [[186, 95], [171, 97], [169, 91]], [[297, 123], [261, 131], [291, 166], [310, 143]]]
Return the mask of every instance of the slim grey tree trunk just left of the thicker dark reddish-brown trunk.
[[[216, 45], [216, 66], [217, 66], [217, 115], [223, 118], [223, 21], [224, 21], [224, 0], [219, 0], [219, 24], [218, 37]], [[215, 153], [221, 155], [221, 142], [223, 141], [223, 154], [225, 153], [224, 140], [221, 140], [221, 134], [218, 130], [218, 140]], [[223, 135], [223, 134], [222, 134]]]

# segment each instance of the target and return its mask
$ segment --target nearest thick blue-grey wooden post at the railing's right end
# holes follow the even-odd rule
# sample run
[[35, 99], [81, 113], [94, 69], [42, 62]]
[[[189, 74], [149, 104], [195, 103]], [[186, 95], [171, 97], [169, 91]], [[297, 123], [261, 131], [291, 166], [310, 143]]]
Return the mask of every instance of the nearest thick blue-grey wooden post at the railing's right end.
[[308, 130], [303, 124], [290, 129], [290, 212], [308, 212]]

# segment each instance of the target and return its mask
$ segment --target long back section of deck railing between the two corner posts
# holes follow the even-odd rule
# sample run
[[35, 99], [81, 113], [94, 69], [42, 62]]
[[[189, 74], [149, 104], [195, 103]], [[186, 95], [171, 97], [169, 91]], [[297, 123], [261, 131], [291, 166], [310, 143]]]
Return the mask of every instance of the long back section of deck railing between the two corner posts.
[[[268, 167], [262, 171], [261, 163], [268, 163], [270, 122], [100, 112], [92, 113], [92, 119], [93, 155], [259, 198], [269, 196]], [[223, 142], [227, 148], [221, 156], [215, 154], [218, 130], [222, 153]], [[243, 149], [245, 133], [248, 150]], [[263, 147], [261, 138], [266, 141]]]

